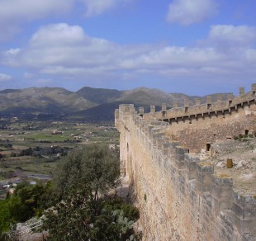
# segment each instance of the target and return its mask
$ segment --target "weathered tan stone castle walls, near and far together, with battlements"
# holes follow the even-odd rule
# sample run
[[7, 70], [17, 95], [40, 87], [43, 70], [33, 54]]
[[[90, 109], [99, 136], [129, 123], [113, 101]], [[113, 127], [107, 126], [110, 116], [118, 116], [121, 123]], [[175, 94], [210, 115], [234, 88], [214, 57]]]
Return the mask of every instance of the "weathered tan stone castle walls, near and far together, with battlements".
[[[149, 114], [137, 114], [133, 105], [116, 110], [121, 168], [140, 208], [144, 240], [256, 240], [256, 196], [240, 195], [230, 177], [219, 177], [192, 154], [205, 147], [207, 133], [211, 143], [255, 132], [255, 88], [218, 106], [153, 107]], [[197, 138], [189, 135], [200, 140], [190, 144]]]

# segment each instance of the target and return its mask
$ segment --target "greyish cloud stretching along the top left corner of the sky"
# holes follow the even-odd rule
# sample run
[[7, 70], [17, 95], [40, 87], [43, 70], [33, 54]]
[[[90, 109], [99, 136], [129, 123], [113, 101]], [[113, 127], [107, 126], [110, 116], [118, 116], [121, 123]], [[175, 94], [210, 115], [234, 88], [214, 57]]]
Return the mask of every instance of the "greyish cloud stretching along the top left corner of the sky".
[[75, 3], [82, 2], [86, 17], [103, 12], [130, 0], [9, 0], [0, 1], [0, 41], [10, 39], [21, 31], [21, 24], [44, 17], [72, 12]]

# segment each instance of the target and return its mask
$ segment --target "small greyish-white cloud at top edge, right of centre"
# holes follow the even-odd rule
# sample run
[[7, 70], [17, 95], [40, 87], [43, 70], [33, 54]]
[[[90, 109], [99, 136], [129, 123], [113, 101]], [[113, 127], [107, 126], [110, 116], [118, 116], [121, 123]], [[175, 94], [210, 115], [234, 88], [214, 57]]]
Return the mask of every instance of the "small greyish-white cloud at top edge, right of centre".
[[173, 0], [168, 6], [167, 20], [187, 26], [212, 17], [216, 9], [214, 0]]

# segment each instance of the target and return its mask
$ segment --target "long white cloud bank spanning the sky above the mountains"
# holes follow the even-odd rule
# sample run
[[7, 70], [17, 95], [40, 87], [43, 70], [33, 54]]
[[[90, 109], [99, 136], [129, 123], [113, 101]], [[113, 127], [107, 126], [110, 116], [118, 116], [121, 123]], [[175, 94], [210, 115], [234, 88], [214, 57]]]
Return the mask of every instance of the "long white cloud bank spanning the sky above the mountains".
[[[5, 51], [2, 63], [50, 79], [107, 81], [143, 78], [147, 74], [164, 78], [244, 78], [256, 74], [254, 31], [249, 26], [211, 26], [205, 45], [194, 47], [119, 45], [87, 35], [81, 26], [59, 23], [40, 27], [25, 48]], [[234, 47], [232, 51], [220, 50], [223, 41]]]

